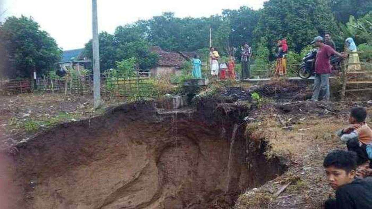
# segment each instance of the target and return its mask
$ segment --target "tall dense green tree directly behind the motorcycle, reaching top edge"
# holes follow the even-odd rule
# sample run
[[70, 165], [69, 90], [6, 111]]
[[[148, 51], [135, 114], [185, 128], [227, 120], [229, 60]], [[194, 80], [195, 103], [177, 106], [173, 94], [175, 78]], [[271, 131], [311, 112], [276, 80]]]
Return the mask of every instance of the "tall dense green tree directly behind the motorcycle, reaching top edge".
[[[326, 0], [270, 0], [264, 3], [254, 40], [266, 37], [272, 51], [276, 40], [287, 38], [289, 48], [299, 52], [312, 38], [324, 32], [339, 33]], [[335, 36], [336, 41], [340, 40]]]

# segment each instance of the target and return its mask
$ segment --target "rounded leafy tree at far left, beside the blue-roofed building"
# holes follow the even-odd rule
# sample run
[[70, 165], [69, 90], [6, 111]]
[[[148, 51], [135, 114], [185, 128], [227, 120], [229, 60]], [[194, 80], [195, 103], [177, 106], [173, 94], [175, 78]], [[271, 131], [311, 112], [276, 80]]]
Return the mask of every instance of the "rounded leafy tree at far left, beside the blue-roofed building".
[[38, 75], [45, 74], [61, 59], [62, 50], [55, 40], [28, 17], [8, 17], [0, 25], [0, 32], [1, 42], [15, 70], [12, 77], [32, 77], [34, 70]]

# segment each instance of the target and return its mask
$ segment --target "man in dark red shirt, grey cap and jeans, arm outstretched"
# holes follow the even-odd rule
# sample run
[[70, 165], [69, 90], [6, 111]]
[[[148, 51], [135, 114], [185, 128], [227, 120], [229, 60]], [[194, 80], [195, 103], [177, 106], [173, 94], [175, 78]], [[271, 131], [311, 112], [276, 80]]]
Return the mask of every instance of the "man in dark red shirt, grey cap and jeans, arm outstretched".
[[314, 38], [311, 42], [318, 47], [317, 57], [315, 58], [315, 78], [314, 78], [314, 93], [312, 94], [312, 101], [318, 101], [320, 90], [323, 91], [323, 100], [329, 101], [329, 75], [331, 74], [331, 63], [329, 58], [331, 55], [345, 57], [345, 55], [334, 51], [331, 46], [324, 44], [324, 39], [321, 36]]

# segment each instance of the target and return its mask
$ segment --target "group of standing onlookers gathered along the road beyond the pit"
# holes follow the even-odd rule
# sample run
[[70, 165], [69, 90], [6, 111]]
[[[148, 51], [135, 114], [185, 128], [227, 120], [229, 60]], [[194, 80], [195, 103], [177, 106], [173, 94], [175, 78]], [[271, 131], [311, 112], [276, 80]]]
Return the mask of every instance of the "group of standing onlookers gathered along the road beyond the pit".
[[[320, 91], [323, 92], [323, 99], [329, 100], [330, 97], [330, 87], [329, 87], [329, 77], [331, 74], [331, 56], [339, 56], [346, 58], [346, 54], [340, 54], [336, 51], [336, 46], [331, 38], [330, 33], [326, 33], [324, 38], [317, 36], [312, 42], [317, 48], [317, 56], [314, 64], [315, 68], [315, 81], [312, 100], [317, 101]], [[287, 74], [287, 63], [286, 54], [288, 53], [288, 44], [286, 39], [279, 39], [277, 42], [278, 53], [276, 55], [276, 66], [275, 75], [285, 76]], [[357, 48], [355, 42], [352, 38], [347, 38], [345, 41], [345, 48], [349, 53], [349, 67], [348, 70], [360, 70], [359, 57], [356, 53]], [[211, 47], [209, 52], [209, 64], [211, 66], [211, 75], [219, 77], [221, 80], [229, 78], [235, 80], [235, 61], [234, 57], [230, 56], [227, 60], [222, 60], [216, 48]], [[250, 72], [250, 58], [252, 56], [252, 48], [247, 44], [243, 43], [241, 48], [241, 80], [248, 80], [251, 77]], [[201, 73], [201, 60], [198, 55], [193, 59], [193, 77], [202, 78]], [[219, 63], [221, 62], [221, 63]]]

